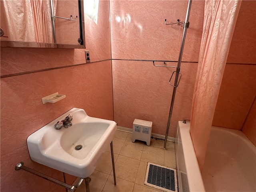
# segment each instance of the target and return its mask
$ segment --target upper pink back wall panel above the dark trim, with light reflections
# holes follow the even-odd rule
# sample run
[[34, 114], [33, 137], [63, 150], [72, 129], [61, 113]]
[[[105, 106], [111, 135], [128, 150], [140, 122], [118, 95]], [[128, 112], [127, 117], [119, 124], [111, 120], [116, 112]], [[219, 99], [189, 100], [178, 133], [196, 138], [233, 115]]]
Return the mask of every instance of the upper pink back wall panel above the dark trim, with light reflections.
[[[164, 20], [184, 21], [187, 5], [180, 0], [111, 0], [112, 58], [178, 60], [182, 25], [165, 25]], [[198, 60], [203, 11], [204, 1], [192, 3], [183, 60]]]

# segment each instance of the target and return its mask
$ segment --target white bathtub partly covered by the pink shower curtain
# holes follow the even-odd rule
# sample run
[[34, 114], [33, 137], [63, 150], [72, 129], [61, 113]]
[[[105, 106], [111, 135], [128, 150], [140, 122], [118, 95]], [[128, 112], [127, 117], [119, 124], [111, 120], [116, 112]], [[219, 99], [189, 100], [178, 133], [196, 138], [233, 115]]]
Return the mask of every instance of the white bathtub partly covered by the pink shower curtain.
[[212, 127], [201, 174], [189, 130], [189, 122], [178, 122], [175, 153], [179, 192], [256, 191], [256, 147], [241, 131]]

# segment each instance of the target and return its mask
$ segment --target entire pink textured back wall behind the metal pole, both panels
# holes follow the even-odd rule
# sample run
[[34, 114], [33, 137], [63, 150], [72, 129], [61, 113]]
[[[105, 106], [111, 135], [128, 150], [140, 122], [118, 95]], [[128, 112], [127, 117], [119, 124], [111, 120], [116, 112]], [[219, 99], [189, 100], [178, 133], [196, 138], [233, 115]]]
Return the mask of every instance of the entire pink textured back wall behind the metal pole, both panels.
[[[110, 1], [112, 59], [178, 61], [182, 25], [188, 1]], [[182, 60], [198, 61], [204, 2], [193, 1]], [[163, 65], [163, 62], [155, 62]], [[177, 62], [168, 62], [176, 66]], [[132, 128], [135, 118], [153, 122], [153, 133], [165, 134], [173, 68], [152, 62], [112, 60], [114, 118], [119, 126]], [[197, 63], [182, 63], [169, 136], [175, 137], [178, 120], [190, 118]]]

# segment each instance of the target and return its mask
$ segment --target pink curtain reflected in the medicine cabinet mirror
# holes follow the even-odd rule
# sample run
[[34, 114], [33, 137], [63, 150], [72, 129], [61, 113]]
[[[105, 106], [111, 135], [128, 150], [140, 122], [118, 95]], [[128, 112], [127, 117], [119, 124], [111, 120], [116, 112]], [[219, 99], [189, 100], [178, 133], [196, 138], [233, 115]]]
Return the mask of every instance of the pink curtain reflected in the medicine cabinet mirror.
[[48, 0], [3, 0], [8, 40], [53, 43]]

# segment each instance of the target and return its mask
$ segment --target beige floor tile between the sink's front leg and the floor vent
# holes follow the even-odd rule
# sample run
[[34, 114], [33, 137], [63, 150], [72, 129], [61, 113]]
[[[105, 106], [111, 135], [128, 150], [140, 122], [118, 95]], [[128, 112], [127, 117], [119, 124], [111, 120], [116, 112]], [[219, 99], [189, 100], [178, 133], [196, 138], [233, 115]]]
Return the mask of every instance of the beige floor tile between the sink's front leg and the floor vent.
[[135, 182], [139, 164], [139, 160], [119, 155], [115, 163], [116, 177]]

